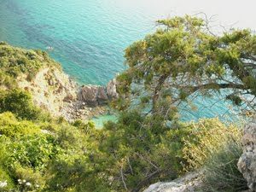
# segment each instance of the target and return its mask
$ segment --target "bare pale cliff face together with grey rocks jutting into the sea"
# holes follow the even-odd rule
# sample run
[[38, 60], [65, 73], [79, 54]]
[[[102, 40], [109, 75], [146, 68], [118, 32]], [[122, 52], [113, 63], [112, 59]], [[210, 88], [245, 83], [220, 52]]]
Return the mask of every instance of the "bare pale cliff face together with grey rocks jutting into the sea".
[[31, 81], [28, 81], [26, 76], [20, 76], [18, 85], [32, 93], [33, 102], [38, 107], [68, 120], [88, 119], [105, 113], [104, 106], [118, 96], [115, 79], [106, 87], [79, 87], [57, 67], [42, 68]]

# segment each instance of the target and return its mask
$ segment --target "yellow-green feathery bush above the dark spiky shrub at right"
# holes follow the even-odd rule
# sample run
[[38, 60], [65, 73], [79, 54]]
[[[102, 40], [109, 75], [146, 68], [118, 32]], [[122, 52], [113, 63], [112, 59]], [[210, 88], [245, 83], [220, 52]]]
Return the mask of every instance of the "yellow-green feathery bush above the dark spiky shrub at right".
[[241, 129], [235, 125], [224, 125], [219, 119], [201, 119], [187, 128], [189, 135], [184, 137], [184, 169], [191, 171], [200, 168], [226, 143], [241, 140]]

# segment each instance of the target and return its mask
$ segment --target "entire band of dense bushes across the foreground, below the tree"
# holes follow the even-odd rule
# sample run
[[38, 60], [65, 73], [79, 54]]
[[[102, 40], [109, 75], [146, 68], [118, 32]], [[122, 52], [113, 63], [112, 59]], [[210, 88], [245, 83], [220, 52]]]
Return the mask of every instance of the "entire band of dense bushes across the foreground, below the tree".
[[[230, 189], [214, 183], [226, 174], [244, 186], [236, 169], [241, 132], [218, 119], [168, 126], [127, 112], [96, 130], [79, 120], [72, 125], [59, 119], [32, 122], [2, 113], [0, 134], [0, 181], [18, 191], [140, 191], [204, 166], [207, 186]], [[240, 148], [224, 149], [230, 141]]]

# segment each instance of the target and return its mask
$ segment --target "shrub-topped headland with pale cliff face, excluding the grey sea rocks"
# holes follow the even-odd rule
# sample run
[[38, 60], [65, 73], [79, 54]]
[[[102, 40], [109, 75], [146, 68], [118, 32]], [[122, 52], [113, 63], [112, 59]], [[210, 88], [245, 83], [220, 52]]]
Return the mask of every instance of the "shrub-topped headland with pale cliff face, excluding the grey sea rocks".
[[[50, 59], [46, 52], [0, 43], [0, 66], [3, 95], [9, 95], [9, 91], [21, 91], [32, 95], [32, 102], [51, 116], [73, 119], [70, 104], [77, 97], [77, 84], [62, 72], [61, 65]], [[14, 98], [13, 102], [15, 99], [18, 98]]]

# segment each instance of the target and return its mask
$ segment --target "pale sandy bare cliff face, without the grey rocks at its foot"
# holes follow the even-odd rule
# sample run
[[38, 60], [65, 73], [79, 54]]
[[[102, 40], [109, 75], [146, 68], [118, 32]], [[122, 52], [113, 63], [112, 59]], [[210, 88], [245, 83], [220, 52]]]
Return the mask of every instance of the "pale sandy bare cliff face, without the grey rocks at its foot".
[[72, 117], [68, 113], [69, 103], [76, 100], [78, 85], [56, 67], [39, 70], [31, 81], [26, 76], [19, 77], [21, 89], [32, 93], [33, 102], [54, 116]]

